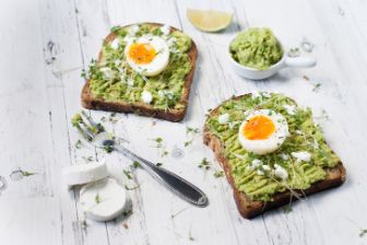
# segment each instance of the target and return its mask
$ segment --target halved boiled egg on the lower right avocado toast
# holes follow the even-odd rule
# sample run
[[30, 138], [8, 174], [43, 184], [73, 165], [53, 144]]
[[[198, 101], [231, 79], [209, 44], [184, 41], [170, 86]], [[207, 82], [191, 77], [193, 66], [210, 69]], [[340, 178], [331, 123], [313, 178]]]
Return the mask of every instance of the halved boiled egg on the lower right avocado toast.
[[247, 151], [263, 155], [276, 151], [288, 135], [288, 124], [282, 114], [258, 109], [247, 114], [238, 139]]

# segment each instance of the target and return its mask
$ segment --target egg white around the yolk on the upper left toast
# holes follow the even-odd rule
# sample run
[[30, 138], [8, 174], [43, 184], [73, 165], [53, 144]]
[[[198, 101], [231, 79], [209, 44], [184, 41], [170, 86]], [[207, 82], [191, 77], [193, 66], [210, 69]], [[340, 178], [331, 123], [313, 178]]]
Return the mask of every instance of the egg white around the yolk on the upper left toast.
[[161, 73], [167, 67], [169, 61], [169, 49], [166, 40], [157, 36], [142, 36], [137, 39], [135, 43], [152, 45], [156, 51], [156, 56], [150, 63], [135, 63], [128, 55], [131, 45], [134, 44], [134, 42], [129, 42], [125, 48], [125, 55], [129, 66], [133, 70], [142, 75], [153, 77]]

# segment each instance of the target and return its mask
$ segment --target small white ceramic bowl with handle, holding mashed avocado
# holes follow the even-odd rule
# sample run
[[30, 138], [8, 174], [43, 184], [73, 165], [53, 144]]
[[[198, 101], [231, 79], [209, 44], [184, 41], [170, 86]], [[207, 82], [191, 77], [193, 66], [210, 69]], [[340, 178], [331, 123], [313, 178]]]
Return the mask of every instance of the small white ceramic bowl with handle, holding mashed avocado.
[[267, 70], [258, 70], [254, 68], [250, 68], [250, 67], [245, 67], [242, 65], [240, 65], [239, 62], [237, 62], [230, 54], [229, 50], [229, 46], [232, 44], [232, 42], [236, 38], [237, 34], [229, 40], [228, 45], [227, 45], [227, 56], [229, 59], [229, 63], [233, 67], [233, 69], [235, 70], [235, 72], [246, 79], [252, 79], [252, 80], [262, 80], [262, 79], [267, 79], [269, 77], [272, 77], [273, 74], [275, 74], [279, 70], [286, 68], [286, 67], [295, 67], [295, 68], [310, 68], [310, 67], [315, 67], [316, 66], [316, 59], [313, 57], [296, 57], [296, 58], [289, 58], [286, 55], [286, 51], [282, 45], [282, 43], [280, 40], [277, 40], [282, 47], [282, 49], [284, 50], [283, 52], [283, 57], [280, 61], [277, 61], [276, 63], [274, 63], [273, 66], [271, 66], [269, 69]]

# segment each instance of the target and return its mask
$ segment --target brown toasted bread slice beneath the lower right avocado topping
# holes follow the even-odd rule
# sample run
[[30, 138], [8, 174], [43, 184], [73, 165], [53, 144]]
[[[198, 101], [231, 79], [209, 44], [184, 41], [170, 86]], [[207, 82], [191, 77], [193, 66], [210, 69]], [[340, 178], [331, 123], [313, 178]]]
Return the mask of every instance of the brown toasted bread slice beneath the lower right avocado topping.
[[[240, 97], [248, 95], [250, 94], [237, 96], [232, 100], [239, 100]], [[209, 116], [215, 116], [217, 114], [218, 114], [218, 107], [214, 108]], [[227, 180], [234, 190], [234, 198], [237, 205], [237, 209], [244, 218], [251, 219], [265, 212], [267, 210], [284, 206], [286, 203], [289, 203], [292, 200], [297, 200], [288, 190], [275, 194], [272, 201], [265, 202], [265, 201], [251, 200], [249, 197], [246, 196], [245, 192], [239, 191], [238, 188], [235, 186], [230, 164], [223, 154], [225, 145], [223, 145], [223, 143], [216, 136], [211, 133], [210, 128], [206, 124], [204, 125], [203, 129], [203, 140], [204, 143], [213, 150], [216, 160], [223, 167]], [[345, 182], [345, 174], [346, 174], [345, 168], [342, 162], [340, 162], [334, 167], [327, 170], [327, 177], [323, 180], [312, 184], [308, 189], [295, 190], [295, 191], [300, 197], [305, 197], [315, 192], [319, 192], [332, 187], [340, 186]]]

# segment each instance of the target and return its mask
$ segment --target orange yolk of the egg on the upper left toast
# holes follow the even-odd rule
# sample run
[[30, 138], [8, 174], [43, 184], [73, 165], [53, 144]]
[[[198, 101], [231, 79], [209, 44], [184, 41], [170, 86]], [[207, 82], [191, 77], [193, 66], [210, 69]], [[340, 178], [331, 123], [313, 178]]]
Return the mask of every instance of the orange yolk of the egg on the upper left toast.
[[129, 58], [138, 65], [150, 63], [156, 56], [156, 51], [151, 44], [132, 44], [128, 52]]

